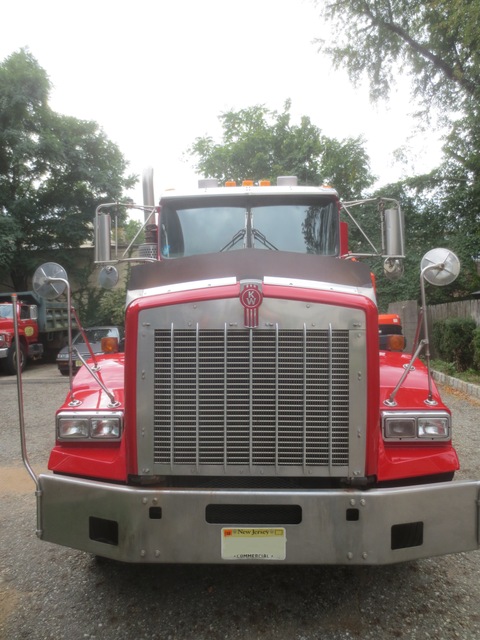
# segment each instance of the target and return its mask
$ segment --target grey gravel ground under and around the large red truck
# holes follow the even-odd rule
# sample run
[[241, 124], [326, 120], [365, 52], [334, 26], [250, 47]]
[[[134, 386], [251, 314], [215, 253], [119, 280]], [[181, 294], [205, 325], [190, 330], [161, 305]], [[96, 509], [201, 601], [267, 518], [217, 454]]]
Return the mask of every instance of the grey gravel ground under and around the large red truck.
[[[66, 391], [54, 365], [25, 376], [36, 471], [46, 466]], [[480, 403], [443, 391], [463, 463], [457, 477], [478, 479]], [[33, 482], [21, 467], [16, 387], [3, 375], [0, 406], [2, 640], [480, 638], [480, 552], [390, 567], [141, 566], [40, 542]]]

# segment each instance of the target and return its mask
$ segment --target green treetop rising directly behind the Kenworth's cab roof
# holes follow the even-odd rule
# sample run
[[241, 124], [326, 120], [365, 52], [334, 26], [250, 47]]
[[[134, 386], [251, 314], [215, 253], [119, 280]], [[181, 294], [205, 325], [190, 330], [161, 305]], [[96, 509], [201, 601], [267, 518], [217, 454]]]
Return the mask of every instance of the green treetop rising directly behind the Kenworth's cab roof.
[[223, 139], [196, 138], [188, 153], [196, 170], [221, 182], [296, 175], [302, 184], [334, 186], [344, 199], [356, 198], [373, 183], [361, 138], [335, 140], [322, 134], [307, 116], [291, 123], [291, 103], [283, 113], [256, 105], [222, 113]]

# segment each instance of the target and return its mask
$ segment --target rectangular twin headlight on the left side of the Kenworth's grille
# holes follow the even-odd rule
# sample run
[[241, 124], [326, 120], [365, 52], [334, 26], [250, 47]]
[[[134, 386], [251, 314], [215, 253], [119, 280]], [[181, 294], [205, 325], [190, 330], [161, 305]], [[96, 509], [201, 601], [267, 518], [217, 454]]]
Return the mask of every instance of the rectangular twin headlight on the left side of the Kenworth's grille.
[[119, 440], [123, 431], [123, 413], [95, 412], [59, 413], [57, 438], [59, 440]]

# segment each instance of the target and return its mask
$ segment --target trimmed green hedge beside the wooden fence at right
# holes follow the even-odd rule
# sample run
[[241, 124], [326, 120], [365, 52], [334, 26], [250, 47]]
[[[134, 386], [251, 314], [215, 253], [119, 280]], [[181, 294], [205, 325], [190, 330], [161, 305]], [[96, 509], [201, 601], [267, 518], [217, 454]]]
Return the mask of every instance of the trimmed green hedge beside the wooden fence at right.
[[476, 323], [471, 318], [448, 318], [435, 322], [432, 331], [435, 352], [442, 360], [451, 362], [457, 371], [466, 371], [473, 366], [475, 330]]

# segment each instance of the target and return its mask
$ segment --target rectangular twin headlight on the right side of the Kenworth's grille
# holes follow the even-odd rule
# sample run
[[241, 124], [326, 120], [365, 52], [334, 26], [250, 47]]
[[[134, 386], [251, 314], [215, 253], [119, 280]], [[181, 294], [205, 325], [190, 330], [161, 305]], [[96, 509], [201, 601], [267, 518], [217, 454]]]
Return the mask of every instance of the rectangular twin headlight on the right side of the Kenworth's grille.
[[451, 418], [445, 411], [397, 411], [382, 413], [383, 437], [392, 442], [451, 439]]

